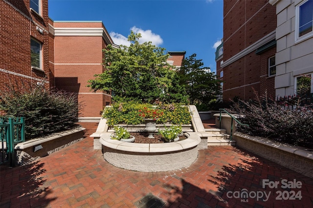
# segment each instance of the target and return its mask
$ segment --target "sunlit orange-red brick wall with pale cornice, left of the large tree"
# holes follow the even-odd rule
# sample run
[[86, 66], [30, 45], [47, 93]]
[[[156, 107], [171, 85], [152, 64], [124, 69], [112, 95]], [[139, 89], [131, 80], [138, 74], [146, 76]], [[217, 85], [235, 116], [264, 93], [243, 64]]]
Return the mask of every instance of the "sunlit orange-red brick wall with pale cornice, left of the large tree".
[[[101, 22], [54, 22], [54, 27], [103, 26]], [[111, 95], [102, 91], [94, 93], [87, 87], [88, 80], [104, 71], [101, 64], [104, 47], [106, 43], [102, 36], [54, 37], [55, 84], [58, 89], [78, 94], [78, 102], [83, 106], [79, 117], [100, 117], [106, 102], [111, 103]]]

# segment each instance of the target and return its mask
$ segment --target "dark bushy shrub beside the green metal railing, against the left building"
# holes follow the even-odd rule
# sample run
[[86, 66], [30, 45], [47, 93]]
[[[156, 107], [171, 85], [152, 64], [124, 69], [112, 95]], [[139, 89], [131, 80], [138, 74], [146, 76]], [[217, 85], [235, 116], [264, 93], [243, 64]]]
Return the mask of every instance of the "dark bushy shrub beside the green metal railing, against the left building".
[[25, 137], [32, 139], [70, 129], [78, 118], [77, 95], [31, 86], [1, 92], [0, 110], [5, 117], [25, 117]]

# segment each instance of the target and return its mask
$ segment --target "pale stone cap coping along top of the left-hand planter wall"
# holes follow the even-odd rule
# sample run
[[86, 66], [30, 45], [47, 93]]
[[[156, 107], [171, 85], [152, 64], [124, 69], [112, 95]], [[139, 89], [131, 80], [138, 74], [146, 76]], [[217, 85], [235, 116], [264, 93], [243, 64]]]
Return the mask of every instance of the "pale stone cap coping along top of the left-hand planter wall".
[[28, 148], [30, 146], [37, 146], [37, 145], [43, 144], [45, 142], [49, 142], [51, 140], [58, 139], [60, 137], [67, 136], [67, 135], [72, 134], [72, 133], [84, 131], [85, 129], [86, 128], [78, 127], [78, 128], [74, 128], [71, 130], [63, 131], [61, 133], [56, 133], [56, 135], [54, 135], [54, 136], [41, 137], [41, 138], [37, 138], [37, 139], [28, 140], [26, 142], [18, 143], [14, 148], [15, 149], [25, 149], [25, 148]]

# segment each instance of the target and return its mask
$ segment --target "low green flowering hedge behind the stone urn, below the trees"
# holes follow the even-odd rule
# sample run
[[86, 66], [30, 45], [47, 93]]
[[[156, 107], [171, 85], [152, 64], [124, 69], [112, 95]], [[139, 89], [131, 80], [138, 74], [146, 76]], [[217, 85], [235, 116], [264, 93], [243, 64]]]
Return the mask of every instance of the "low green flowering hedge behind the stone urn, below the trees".
[[102, 117], [107, 119], [110, 126], [117, 124], [138, 125], [144, 124], [141, 111], [144, 109], [156, 109], [163, 112], [156, 120], [158, 124], [171, 123], [175, 125], [190, 124], [191, 117], [187, 106], [180, 104], [140, 104], [137, 102], [113, 103], [111, 107], [106, 107]]

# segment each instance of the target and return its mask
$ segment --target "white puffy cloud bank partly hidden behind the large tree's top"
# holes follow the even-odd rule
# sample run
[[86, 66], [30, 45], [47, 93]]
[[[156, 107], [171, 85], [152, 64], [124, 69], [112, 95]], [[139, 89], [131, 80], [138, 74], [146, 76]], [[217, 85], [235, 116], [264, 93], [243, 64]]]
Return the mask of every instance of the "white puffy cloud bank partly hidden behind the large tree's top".
[[[139, 43], [143, 43], [143, 42], [149, 42], [151, 41], [152, 44], [159, 46], [163, 43], [163, 39], [161, 38], [161, 36], [153, 33], [151, 30], [143, 30], [140, 28], [137, 28], [136, 26], [132, 27], [130, 30], [133, 30], [134, 33], [140, 33], [141, 34], [141, 38], [139, 39]], [[113, 40], [113, 42], [117, 45], [130, 45], [130, 42], [127, 41], [127, 37], [119, 34], [119, 33], [115, 33], [115, 32], [111, 32], [110, 36]]]

